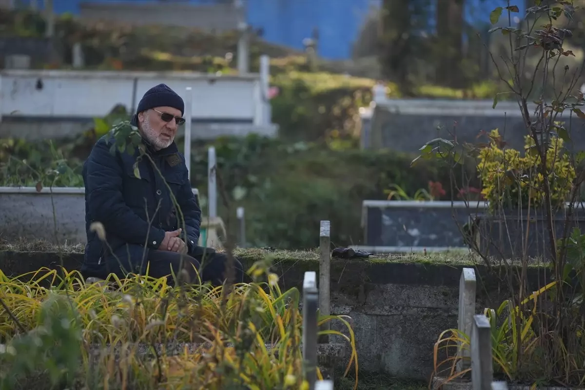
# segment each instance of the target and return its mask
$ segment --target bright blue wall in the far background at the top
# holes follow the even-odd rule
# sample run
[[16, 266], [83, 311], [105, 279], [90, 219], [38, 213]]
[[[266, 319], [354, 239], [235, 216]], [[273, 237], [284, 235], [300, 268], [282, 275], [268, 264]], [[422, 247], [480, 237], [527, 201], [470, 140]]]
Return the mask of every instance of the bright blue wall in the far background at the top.
[[[194, 4], [212, 2], [188, 1]], [[436, 1], [440, 5], [442, 0]], [[78, 14], [79, 2], [54, 0], [54, 9], [57, 13]], [[330, 59], [345, 59], [351, 55], [352, 43], [370, 7], [379, 6], [381, 0], [245, 0], [245, 3], [248, 23], [255, 28], [261, 27], [267, 41], [303, 49], [302, 40], [310, 37], [314, 27], [318, 27], [319, 54]], [[524, 8], [523, 3], [524, 0], [518, 0], [520, 9]], [[465, 18], [472, 24], [488, 22], [491, 10], [505, 5], [506, 0], [466, 0]]]

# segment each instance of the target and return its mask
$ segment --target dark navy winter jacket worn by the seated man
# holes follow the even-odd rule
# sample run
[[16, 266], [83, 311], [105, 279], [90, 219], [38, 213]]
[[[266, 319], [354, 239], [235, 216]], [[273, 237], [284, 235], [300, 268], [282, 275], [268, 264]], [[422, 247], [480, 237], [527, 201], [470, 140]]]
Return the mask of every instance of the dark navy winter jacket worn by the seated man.
[[[110, 134], [99, 139], [82, 172], [87, 230], [82, 273], [86, 277], [105, 277], [109, 272], [122, 277], [127, 272], [144, 273], [144, 259], [149, 250], [159, 248], [164, 232], [183, 228], [181, 239], [190, 252], [199, 239], [201, 209], [177, 145], [173, 143], [159, 151], [147, 147], [160, 174], [153, 168], [153, 162], [144, 156], [137, 164], [140, 176], [137, 178], [134, 164], [139, 151], [130, 155], [116, 149], [112, 156], [113, 141]], [[183, 213], [184, 223], [165, 182]], [[97, 232], [90, 231], [92, 222], [101, 222], [105, 227], [107, 244], [99, 239]]]

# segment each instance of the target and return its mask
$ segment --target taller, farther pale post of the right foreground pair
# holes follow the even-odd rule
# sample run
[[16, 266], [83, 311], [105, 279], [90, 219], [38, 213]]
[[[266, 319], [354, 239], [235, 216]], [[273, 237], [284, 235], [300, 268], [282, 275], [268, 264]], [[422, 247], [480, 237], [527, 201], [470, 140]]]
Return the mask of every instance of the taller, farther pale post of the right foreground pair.
[[[475, 315], [476, 303], [476, 274], [473, 268], [463, 268], [459, 279], [459, 317], [457, 329], [459, 332], [471, 337], [473, 329], [473, 316]], [[463, 350], [461, 342], [457, 348], [457, 371], [461, 372], [471, 367], [470, 351]]]

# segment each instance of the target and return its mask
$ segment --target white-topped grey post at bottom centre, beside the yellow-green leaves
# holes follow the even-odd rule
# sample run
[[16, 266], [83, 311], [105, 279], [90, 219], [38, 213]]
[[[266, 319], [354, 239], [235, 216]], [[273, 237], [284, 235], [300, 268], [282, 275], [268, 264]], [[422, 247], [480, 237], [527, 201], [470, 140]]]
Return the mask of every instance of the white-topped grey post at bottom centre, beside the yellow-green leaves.
[[317, 305], [319, 292], [315, 271], [305, 272], [302, 282], [302, 360], [309, 390], [315, 390], [317, 378]]

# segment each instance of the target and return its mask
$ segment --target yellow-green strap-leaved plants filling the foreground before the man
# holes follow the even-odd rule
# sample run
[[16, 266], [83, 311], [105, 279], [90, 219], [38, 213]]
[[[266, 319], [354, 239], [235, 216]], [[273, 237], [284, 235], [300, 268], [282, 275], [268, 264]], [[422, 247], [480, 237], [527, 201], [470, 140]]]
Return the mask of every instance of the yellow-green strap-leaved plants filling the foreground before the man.
[[[0, 272], [0, 299], [8, 308], [0, 313], [0, 341], [10, 352], [0, 354], [0, 375], [22, 381], [31, 372], [58, 367], [61, 378], [90, 388], [308, 388], [302, 375], [300, 294], [297, 288], [281, 291], [270, 264], [270, 258], [258, 261], [248, 271], [254, 281], [236, 285], [228, 295], [227, 286], [171, 288], [166, 278], [148, 275], [118, 279], [112, 274], [105, 284], [87, 285], [77, 271], [64, 270], [60, 277], [43, 268], [15, 278]], [[30, 349], [37, 356], [27, 363], [26, 354], [18, 357], [14, 351], [37, 343], [36, 329], [48, 323], [38, 310], [53, 300], [70, 315], [54, 312], [59, 321], [51, 324], [59, 332], [51, 340], [70, 355], [59, 363], [59, 352]], [[354, 365], [357, 386], [353, 330], [346, 316], [318, 319], [319, 325], [331, 321], [342, 323], [349, 336], [335, 330], [320, 334], [349, 343], [346, 374]], [[43, 351], [53, 341], [43, 339]], [[183, 342], [193, 344], [178, 355], [170, 353]], [[154, 358], [140, 355], [140, 348], [156, 345], [162, 349]]]

